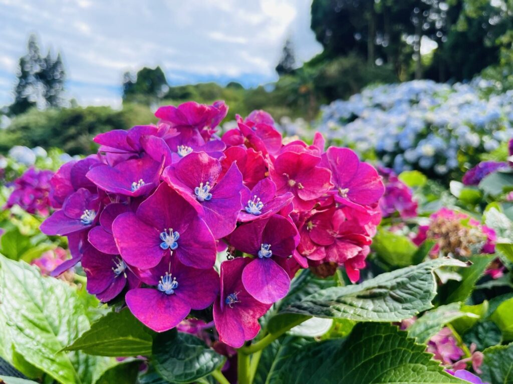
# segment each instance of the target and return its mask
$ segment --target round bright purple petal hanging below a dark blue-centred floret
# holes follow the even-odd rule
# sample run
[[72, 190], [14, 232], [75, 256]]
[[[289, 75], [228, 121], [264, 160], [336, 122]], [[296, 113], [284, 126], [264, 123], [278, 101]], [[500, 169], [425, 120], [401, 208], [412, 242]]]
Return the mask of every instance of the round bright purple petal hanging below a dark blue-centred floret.
[[272, 259], [254, 259], [242, 272], [242, 283], [259, 302], [272, 304], [287, 295], [290, 278]]

